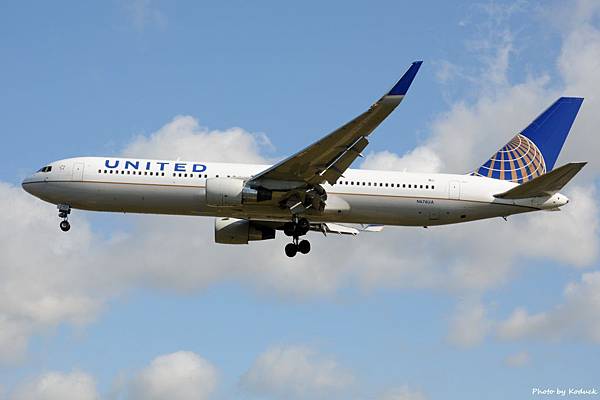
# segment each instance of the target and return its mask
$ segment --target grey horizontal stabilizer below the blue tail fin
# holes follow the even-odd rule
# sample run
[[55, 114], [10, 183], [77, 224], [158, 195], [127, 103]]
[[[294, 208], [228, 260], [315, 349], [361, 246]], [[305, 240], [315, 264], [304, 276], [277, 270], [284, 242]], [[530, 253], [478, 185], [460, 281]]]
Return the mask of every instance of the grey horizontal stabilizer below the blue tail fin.
[[495, 194], [499, 199], [526, 199], [530, 197], [550, 196], [562, 189], [586, 162], [569, 163], [516, 186], [504, 193]]

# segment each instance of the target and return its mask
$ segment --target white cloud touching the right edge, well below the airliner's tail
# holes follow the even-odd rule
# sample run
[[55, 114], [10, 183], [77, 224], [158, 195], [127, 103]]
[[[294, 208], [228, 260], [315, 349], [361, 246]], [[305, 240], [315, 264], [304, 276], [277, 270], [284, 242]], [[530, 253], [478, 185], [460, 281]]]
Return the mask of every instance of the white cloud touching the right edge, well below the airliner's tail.
[[554, 309], [530, 314], [517, 308], [498, 324], [501, 339], [579, 339], [600, 343], [600, 272], [582, 275], [564, 290], [564, 302]]

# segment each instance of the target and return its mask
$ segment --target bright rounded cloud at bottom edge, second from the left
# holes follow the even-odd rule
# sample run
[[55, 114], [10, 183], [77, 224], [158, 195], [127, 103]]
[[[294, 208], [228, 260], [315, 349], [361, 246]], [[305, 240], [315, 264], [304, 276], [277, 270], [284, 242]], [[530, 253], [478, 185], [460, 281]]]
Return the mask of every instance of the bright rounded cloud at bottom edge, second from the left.
[[218, 382], [217, 369], [195, 353], [178, 351], [155, 358], [129, 387], [131, 400], [203, 400]]

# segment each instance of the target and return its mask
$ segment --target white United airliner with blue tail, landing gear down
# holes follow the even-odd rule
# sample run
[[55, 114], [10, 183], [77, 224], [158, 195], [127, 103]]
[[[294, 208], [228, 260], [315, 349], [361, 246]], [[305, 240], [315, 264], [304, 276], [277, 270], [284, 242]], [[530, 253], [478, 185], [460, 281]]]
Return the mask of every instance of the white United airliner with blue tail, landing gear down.
[[274, 165], [121, 157], [54, 161], [22, 187], [72, 209], [215, 217], [215, 242], [248, 244], [276, 231], [285, 253], [307, 254], [309, 231], [357, 235], [385, 225], [435, 226], [559, 210], [559, 191], [585, 162], [554, 164], [583, 98], [561, 97], [480, 167], [466, 174], [351, 169], [369, 135], [402, 102], [422, 61], [367, 111]]

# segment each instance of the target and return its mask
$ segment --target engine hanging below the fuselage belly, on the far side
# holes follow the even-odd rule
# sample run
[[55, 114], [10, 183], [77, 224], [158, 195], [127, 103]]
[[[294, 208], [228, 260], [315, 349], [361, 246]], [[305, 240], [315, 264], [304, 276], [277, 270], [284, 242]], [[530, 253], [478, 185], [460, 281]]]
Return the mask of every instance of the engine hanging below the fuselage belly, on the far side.
[[215, 218], [215, 243], [248, 244], [251, 240], [275, 238], [275, 229], [237, 218]]

